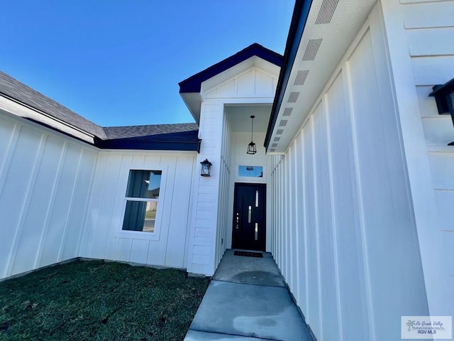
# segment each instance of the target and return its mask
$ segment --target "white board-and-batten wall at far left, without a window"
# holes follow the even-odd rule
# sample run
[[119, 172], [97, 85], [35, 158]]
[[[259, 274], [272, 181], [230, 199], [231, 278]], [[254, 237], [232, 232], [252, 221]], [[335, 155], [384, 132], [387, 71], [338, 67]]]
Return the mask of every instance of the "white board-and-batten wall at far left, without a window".
[[79, 256], [96, 154], [0, 112], [0, 278]]

